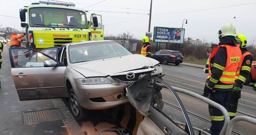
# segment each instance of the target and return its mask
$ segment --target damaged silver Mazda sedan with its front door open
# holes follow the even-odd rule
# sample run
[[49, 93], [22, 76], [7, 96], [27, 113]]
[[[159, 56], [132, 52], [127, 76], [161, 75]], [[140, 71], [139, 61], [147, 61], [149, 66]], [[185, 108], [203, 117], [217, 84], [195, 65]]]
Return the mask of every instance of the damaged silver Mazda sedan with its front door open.
[[158, 61], [131, 54], [110, 40], [67, 43], [40, 51], [10, 48], [9, 55], [20, 100], [69, 97], [76, 119], [85, 117], [84, 109], [128, 102], [126, 87], [148, 74], [161, 78], [162, 73]]

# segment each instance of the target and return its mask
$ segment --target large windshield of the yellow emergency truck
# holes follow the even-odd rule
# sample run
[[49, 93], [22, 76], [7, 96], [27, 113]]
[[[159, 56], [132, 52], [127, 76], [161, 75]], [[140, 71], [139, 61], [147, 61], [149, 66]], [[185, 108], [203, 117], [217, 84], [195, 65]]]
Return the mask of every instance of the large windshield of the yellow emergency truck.
[[88, 28], [85, 12], [61, 8], [31, 8], [29, 23], [31, 27], [50, 28]]

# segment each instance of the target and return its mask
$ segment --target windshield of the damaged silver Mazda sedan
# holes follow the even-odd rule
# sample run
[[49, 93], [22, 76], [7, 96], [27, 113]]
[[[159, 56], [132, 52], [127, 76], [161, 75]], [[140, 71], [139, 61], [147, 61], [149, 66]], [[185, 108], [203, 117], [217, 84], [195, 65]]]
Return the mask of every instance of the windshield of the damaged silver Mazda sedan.
[[69, 62], [79, 63], [104, 58], [131, 55], [116, 42], [95, 42], [69, 46]]

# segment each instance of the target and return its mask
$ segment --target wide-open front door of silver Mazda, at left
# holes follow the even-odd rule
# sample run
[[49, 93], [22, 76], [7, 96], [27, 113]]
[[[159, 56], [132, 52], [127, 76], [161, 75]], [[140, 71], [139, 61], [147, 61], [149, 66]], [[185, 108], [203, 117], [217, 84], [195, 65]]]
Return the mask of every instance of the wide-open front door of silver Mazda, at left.
[[40, 51], [9, 48], [12, 78], [19, 100], [68, 97], [64, 79], [66, 66], [56, 60], [57, 52], [58, 47]]

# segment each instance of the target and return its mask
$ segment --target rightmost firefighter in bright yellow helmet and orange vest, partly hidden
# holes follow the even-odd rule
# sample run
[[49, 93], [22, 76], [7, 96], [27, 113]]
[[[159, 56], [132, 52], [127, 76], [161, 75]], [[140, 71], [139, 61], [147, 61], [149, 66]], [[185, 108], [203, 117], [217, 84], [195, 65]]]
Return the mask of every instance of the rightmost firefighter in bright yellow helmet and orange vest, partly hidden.
[[244, 82], [251, 71], [251, 62], [253, 59], [253, 55], [247, 51], [246, 44], [247, 39], [244, 35], [238, 34], [235, 39], [238, 42], [238, 46], [242, 51], [242, 57], [240, 59], [239, 68], [237, 70], [235, 84], [233, 86], [233, 93], [229, 101], [228, 105], [228, 114], [230, 116], [230, 120], [235, 118], [237, 112], [237, 104], [239, 98], [241, 98], [241, 90]]

